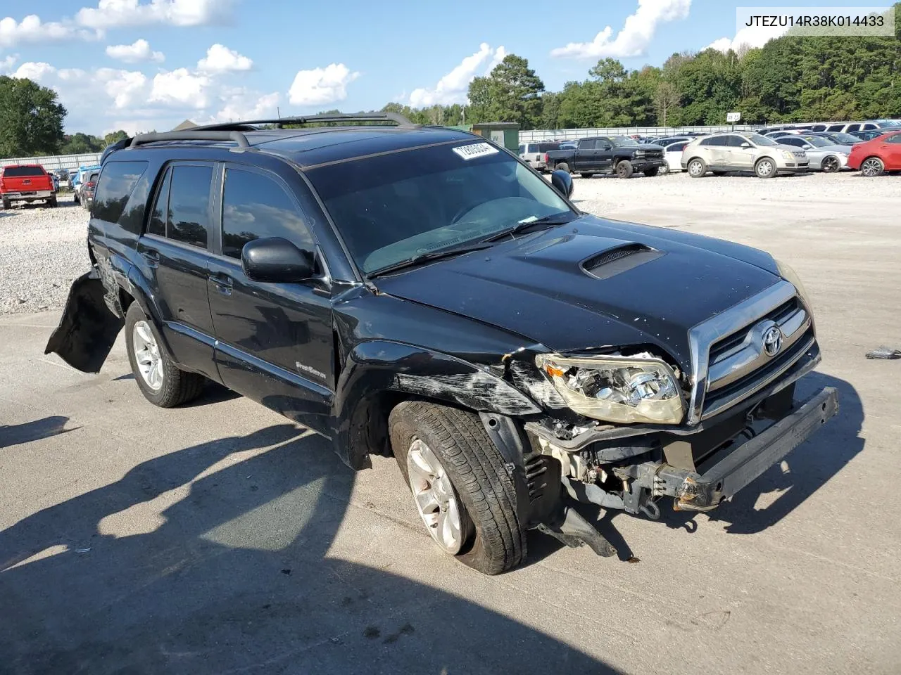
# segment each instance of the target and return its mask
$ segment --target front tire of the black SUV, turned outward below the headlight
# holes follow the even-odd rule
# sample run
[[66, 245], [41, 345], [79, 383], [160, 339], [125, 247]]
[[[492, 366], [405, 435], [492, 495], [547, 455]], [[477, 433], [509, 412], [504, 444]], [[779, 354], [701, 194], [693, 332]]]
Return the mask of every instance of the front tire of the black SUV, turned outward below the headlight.
[[[407, 485], [421, 495], [414, 501], [427, 501], [428, 509], [434, 509], [437, 501], [432, 505], [423, 496], [432, 489], [439, 495], [436, 500], [445, 496], [456, 500], [456, 509], [448, 500], [439, 511], [423, 512], [417, 503], [429, 534], [445, 553], [483, 574], [500, 574], [525, 560], [525, 530], [516, 512], [515, 485], [478, 416], [435, 403], [404, 401], [391, 411], [388, 433]], [[439, 463], [442, 473], [432, 472], [432, 480], [423, 477], [423, 456]], [[425, 464], [434, 466], [431, 461]], [[439, 478], [434, 480], [436, 475]], [[441, 488], [441, 477], [450, 479], [450, 495], [446, 484]], [[451, 545], [447, 545], [437, 526], [441, 520], [431, 518], [445, 513], [446, 523], [452, 520], [454, 510], [460, 515], [459, 543], [451, 537]]]

